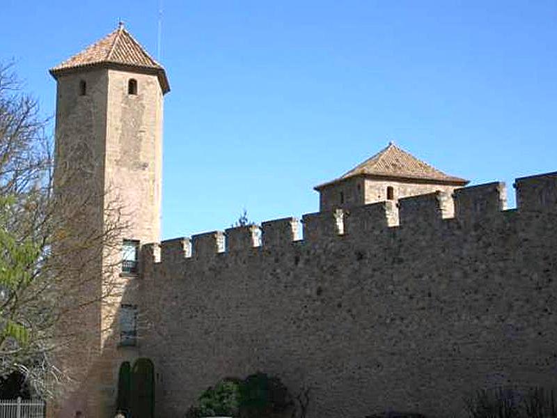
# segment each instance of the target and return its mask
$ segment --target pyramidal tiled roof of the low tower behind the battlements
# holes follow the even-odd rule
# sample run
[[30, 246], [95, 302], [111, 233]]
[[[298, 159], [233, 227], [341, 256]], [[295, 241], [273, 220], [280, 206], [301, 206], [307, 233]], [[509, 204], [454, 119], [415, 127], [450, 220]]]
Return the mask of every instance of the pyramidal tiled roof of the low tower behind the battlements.
[[414, 155], [398, 148], [398, 146], [391, 142], [389, 146], [380, 150], [379, 153], [358, 164], [336, 180], [319, 185], [315, 189], [320, 189], [321, 187], [354, 176], [426, 180], [431, 183], [439, 182], [455, 185], [466, 185], [469, 183], [469, 180], [449, 176], [443, 171], [435, 169], [430, 164], [418, 160]]

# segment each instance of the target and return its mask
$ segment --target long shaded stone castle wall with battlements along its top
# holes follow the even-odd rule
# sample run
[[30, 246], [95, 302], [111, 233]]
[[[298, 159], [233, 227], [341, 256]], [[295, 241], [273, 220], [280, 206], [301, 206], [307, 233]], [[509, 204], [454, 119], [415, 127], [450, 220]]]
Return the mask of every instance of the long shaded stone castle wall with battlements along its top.
[[297, 242], [286, 218], [260, 247], [247, 229], [223, 252], [221, 233], [144, 247], [157, 416], [256, 371], [311, 387], [309, 416], [326, 418], [458, 416], [481, 387], [555, 384], [557, 174], [516, 188], [517, 210], [491, 183], [457, 189], [454, 209], [438, 192], [304, 215]]

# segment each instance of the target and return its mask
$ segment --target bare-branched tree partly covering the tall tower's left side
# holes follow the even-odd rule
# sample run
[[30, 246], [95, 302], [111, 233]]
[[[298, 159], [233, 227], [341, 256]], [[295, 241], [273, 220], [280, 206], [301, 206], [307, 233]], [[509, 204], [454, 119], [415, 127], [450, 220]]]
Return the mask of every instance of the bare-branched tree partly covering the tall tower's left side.
[[87, 332], [68, 318], [122, 291], [126, 224], [87, 144], [63, 149], [55, 169], [46, 125], [13, 65], [0, 65], [0, 376], [22, 371], [50, 397], [68, 386], [56, 353]]

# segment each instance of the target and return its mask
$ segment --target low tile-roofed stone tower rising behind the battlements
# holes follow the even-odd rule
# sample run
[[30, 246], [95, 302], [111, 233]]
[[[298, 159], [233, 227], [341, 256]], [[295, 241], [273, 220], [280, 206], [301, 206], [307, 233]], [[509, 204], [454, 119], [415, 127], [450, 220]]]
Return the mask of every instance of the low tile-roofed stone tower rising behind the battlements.
[[320, 211], [398, 200], [432, 192], [452, 193], [469, 180], [448, 176], [392, 142], [336, 180], [314, 187]]

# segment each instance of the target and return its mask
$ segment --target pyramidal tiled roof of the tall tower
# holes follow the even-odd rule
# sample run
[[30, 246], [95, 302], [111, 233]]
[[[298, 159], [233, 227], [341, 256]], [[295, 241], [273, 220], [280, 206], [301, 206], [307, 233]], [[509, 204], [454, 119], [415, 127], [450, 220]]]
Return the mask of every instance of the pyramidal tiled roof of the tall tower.
[[51, 68], [50, 73], [56, 77], [56, 75], [68, 70], [78, 70], [101, 64], [124, 65], [138, 70], [150, 70], [159, 75], [163, 91], [166, 93], [170, 90], [162, 65], [152, 59], [130, 32], [124, 29], [123, 24], [119, 24], [118, 29], [93, 45], [86, 47], [79, 54], [75, 54], [63, 63]]

